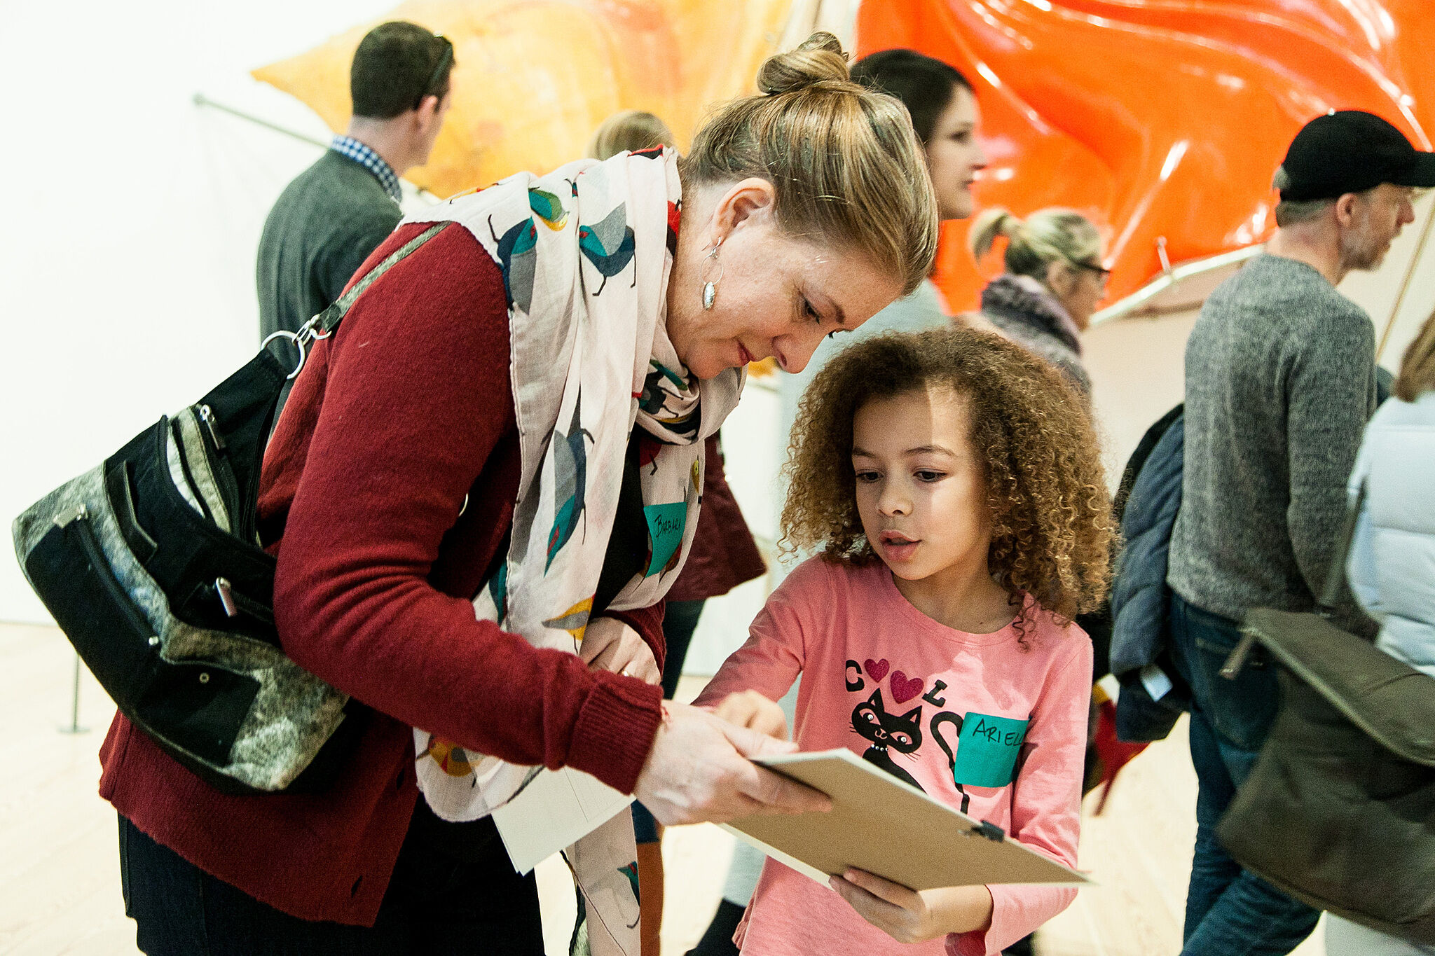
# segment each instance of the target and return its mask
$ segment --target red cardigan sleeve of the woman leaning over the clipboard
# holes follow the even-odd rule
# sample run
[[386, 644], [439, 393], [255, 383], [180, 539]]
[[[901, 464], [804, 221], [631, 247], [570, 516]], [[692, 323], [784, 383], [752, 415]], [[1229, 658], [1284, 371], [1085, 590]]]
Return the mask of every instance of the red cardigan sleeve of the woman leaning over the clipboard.
[[630, 793], [660, 688], [535, 649], [428, 580], [512, 423], [498, 267], [452, 226], [366, 292], [329, 347], [274, 580], [286, 652], [405, 724]]

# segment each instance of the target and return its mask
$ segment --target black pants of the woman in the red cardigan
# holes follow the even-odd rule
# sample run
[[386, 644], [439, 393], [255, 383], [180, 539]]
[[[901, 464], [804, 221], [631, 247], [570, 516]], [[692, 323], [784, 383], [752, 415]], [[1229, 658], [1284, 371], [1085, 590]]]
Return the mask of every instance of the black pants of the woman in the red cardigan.
[[[456, 853], [445, 853], [435, 838], [448, 827], [464, 828]], [[538, 886], [531, 873], [514, 873], [492, 821], [442, 824], [422, 798], [372, 927], [281, 913], [159, 846], [125, 817], [119, 871], [125, 913], [149, 956], [542, 956]]]

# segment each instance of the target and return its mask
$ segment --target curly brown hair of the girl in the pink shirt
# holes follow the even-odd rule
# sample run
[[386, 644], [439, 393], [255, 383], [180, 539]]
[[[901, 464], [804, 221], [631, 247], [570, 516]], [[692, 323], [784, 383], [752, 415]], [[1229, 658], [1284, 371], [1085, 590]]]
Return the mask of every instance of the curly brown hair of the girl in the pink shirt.
[[817, 374], [784, 467], [784, 548], [877, 560], [857, 513], [852, 420], [872, 398], [938, 386], [967, 400], [969, 439], [984, 459], [993, 579], [1013, 602], [1027, 593], [1062, 622], [1095, 611], [1106, 596], [1115, 533], [1091, 419], [1045, 361], [970, 328], [868, 338]]

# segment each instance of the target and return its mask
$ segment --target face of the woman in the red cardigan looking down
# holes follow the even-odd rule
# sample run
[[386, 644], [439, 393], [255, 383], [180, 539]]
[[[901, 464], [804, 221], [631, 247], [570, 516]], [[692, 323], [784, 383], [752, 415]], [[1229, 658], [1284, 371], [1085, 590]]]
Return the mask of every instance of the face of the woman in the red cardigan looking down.
[[[695, 196], [683, 211], [667, 335], [699, 378], [768, 355], [802, 371], [824, 335], [857, 328], [901, 295], [901, 282], [861, 254], [784, 234], [772, 201], [771, 183], [745, 179]], [[719, 274], [713, 307], [705, 310], [703, 285]]]

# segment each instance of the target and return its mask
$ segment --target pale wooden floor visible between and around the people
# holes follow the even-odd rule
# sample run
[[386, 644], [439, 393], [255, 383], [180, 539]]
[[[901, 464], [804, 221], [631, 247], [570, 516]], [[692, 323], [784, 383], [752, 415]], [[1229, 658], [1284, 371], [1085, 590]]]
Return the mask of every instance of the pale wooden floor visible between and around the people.
[[[119, 894], [115, 814], [95, 793], [96, 752], [113, 705], [88, 672], [80, 724], [70, 722], [73, 654], [55, 628], [0, 623], [0, 953], [135, 953]], [[687, 678], [680, 697], [702, 681]], [[1174, 956], [1195, 833], [1195, 775], [1184, 727], [1125, 771], [1106, 813], [1083, 824], [1083, 890], [1038, 936], [1042, 956]], [[722, 892], [732, 838], [712, 826], [676, 827], [663, 844], [667, 906], [663, 952], [680, 956], [700, 936]], [[561, 864], [538, 873], [550, 953], [561, 956], [573, 889]], [[1296, 950], [1325, 956], [1322, 932]]]

